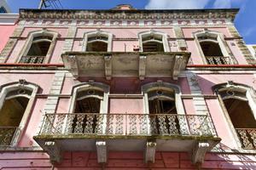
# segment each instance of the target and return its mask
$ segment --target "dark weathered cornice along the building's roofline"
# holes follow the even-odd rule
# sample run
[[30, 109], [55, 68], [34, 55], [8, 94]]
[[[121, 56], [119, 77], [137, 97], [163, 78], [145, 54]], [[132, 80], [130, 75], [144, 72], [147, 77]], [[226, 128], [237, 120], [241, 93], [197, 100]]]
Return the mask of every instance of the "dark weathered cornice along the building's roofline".
[[65, 20], [234, 20], [239, 9], [184, 9], [184, 10], [39, 10], [20, 9], [20, 19]]

